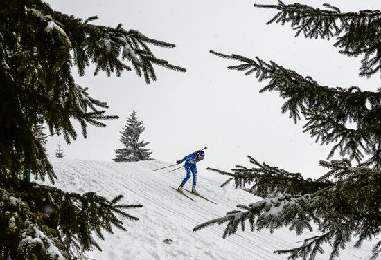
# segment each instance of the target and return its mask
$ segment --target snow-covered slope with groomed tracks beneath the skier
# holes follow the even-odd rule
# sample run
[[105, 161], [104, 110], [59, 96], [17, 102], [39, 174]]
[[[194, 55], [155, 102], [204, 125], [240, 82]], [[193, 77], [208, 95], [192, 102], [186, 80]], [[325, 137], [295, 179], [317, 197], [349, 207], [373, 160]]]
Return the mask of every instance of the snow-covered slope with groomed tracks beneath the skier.
[[[224, 178], [212, 172], [200, 172], [198, 190], [217, 205], [197, 198], [197, 202], [177, 193], [169, 186], [177, 187], [184, 178], [184, 170], [153, 171], [168, 165], [159, 161], [137, 163], [98, 162], [91, 160], [52, 159], [58, 176], [57, 187], [71, 192], [97, 192], [107, 198], [123, 194], [124, 203], [140, 203], [144, 207], [128, 211], [139, 221], [125, 221], [127, 232], [114, 229], [105, 234], [105, 241], [98, 241], [102, 252], [94, 250], [90, 259], [287, 259], [273, 254], [274, 250], [295, 247], [308, 233], [296, 236], [287, 229], [269, 234], [263, 232], [238, 232], [222, 239], [224, 225], [192, 232], [195, 225], [214, 219], [237, 204], [249, 204], [256, 200], [251, 194], [233, 187], [220, 188]], [[190, 186], [190, 181], [186, 184]], [[172, 239], [174, 243], [163, 243]], [[328, 248], [327, 248], [328, 249]], [[360, 250], [353, 243], [340, 252], [337, 259], [369, 259], [371, 243]], [[328, 252], [327, 252], [328, 251]], [[328, 259], [330, 250], [316, 259]]]

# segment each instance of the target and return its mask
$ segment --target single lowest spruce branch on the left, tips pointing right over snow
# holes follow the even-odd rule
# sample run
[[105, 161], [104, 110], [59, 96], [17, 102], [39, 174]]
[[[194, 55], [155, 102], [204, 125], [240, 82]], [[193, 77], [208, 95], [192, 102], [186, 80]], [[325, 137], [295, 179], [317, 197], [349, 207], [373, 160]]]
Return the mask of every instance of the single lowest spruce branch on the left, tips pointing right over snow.
[[122, 195], [109, 201], [94, 192], [81, 195], [38, 184], [26, 187], [26, 192], [28, 196], [23, 197], [23, 201], [33, 205], [35, 211], [48, 207], [48, 214], [50, 214], [48, 225], [57, 227], [60, 236], [65, 238], [67, 248], [80, 244], [82, 245], [80, 250], [91, 250], [92, 246], [101, 250], [92, 238], [91, 232], [100, 239], [105, 239], [103, 230], [113, 233], [114, 226], [125, 231], [123, 221], [118, 219], [118, 216], [137, 221], [139, 219], [136, 216], [128, 214], [125, 210], [142, 207], [142, 205], [121, 203]]

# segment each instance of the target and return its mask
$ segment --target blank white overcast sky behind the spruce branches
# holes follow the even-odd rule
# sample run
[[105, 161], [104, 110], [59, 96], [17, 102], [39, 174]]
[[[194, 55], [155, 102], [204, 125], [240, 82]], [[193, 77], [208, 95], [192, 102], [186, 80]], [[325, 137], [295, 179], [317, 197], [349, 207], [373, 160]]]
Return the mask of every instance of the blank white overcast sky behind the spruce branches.
[[[322, 7], [324, 1], [300, 1]], [[360, 86], [375, 91], [378, 75], [370, 80], [358, 77], [360, 60], [348, 58], [333, 47], [335, 41], [294, 37], [289, 25], [269, 25], [276, 11], [254, 8], [254, 3], [277, 1], [178, 1], [178, 0], [50, 0], [52, 8], [87, 19], [100, 18], [95, 24], [135, 29], [144, 35], [176, 44], [174, 49], [152, 46], [157, 57], [183, 66], [186, 73], [156, 67], [157, 82], [146, 85], [134, 72], [121, 77], [93, 76], [89, 68], [77, 83], [89, 87], [89, 94], [109, 104], [108, 114], [119, 115], [106, 128], [89, 127], [88, 138], [81, 136], [70, 146], [64, 138], [50, 138], [47, 148], [53, 155], [61, 142], [66, 158], [112, 160], [114, 149], [123, 148], [119, 131], [126, 118], [137, 111], [143, 120], [143, 140], [150, 142], [152, 158], [175, 163], [203, 147], [206, 158], [198, 164], [199, 176], [213, 174], [206, 167], [228, 171], [235, 165], [250, 167], [247, 155], [288, 171], [317, 178], [325, 172], [319, 160], [326, 159], [330, 147], [320, 146], [302, 133], [300, 122], [294, 124], [281, 114], [283, 100], [278, 93], [258, 91], [266, 82], [258, 82], [238, 71], [227, 59], [211, 55], [209, 50], [225, 54], [256, 56], [274, 60], [301, 75], [310, 75], [328, 86]], [[294, 3], [294, 1], [284, 1]], [[379, 9], [378, 0], [329, 1], [342, 12]], [[73, 70], [76, 71], [76, 70]], [[78, 124], [76, 124], [78, 125]], [[79, 126], [79, 125], [78, 125]]]

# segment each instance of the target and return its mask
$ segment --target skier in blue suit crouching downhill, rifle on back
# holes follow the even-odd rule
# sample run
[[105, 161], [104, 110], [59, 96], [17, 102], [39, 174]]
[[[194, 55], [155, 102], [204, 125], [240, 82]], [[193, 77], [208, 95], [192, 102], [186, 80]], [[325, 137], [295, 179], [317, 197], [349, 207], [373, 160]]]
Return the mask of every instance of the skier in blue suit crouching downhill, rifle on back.
[[182, 163], [185, 160], [184, 168], [186, 171], [186, 177], [181, 182], [180, 186], [177, 188], [179, 192], [183, 192], [183, 186], [189, 180], [190, 174], [193, 174], [193, 182], [192, 182], [192, 192], [194, 194], [198, 194], [196, 190], [196, 182], [197, 182], [197, 167], [196, 163], [200, 162], [200, 160], [204, 160], [205, 153], [204, 151], [195, 151], [193, 154], [189, 154], [188, 156], [182, 158], [181, 160], [177, 160], [176, 163]]

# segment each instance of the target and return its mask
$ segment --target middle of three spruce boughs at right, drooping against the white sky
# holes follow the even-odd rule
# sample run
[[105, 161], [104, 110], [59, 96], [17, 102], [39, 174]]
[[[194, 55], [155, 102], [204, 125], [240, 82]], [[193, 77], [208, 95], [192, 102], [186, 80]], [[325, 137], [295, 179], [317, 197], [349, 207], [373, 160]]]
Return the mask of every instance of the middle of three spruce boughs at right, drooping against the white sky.
[[[349, 154], [360, 163], [366, 154], [371, 156], [367, 165], [381, 169], [381, 121], [378, 120], [381, 118], [381, 89], [371, 92], [360, 91], [357, 87], [328, 88], [320, 86], [311, 77], [302, 77], [275, 62], [267, 64], [258, 57], [253, 60], [213, 50], [211, 53], [242, 62], [237, 66], [229, 66], [229, 69], [247, 71], [245, 75], [256, 73], [259, 81], [269, 80], [269, 84], [260, 92], [278, 91], [286, 100], [282, 113], [288, 111], [295, 123], [301, 120], [301, 116], [305, 117], [305, 131], [324, 140], [322, 143], [325, 145], [341, 139], [341, 144], [331, 149], [330, 156], [340, 148], [341, 154]], [[356, 128], [348, 129], [348, 122], [355, 123]]]

